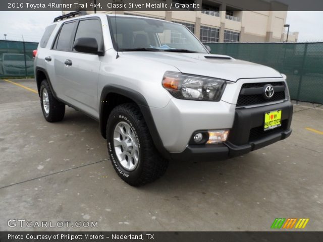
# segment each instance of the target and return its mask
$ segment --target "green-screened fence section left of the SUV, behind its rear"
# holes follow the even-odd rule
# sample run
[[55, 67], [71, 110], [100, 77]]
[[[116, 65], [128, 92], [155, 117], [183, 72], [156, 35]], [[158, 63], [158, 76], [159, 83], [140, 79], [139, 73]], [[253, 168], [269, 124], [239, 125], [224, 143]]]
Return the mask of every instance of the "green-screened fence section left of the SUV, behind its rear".
[[34, 76], [32, 51], [38, 43], [0, 40], [0, 78]]

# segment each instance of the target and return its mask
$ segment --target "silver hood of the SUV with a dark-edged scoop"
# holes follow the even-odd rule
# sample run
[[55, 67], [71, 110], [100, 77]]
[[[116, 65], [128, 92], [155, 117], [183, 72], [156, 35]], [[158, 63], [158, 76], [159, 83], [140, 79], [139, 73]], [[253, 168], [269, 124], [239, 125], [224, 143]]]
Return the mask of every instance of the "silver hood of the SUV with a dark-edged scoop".
[[281, 78], [273, 68], [240, 61], [227, 55], [178, 52], [123, 52], [176, 67], [180, 72], [236, 82], [244, 78]]

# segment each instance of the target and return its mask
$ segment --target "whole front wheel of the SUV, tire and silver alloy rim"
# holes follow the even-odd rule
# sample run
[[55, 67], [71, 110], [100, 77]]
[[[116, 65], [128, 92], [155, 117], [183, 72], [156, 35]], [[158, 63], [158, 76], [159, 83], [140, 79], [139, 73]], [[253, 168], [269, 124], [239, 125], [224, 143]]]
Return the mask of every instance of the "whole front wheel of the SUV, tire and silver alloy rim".
[[153, 145], [145, 120], [135, 104], [115, 107], [107, 120], [107, 148], [118, 175], [131, 186], [157, 179], [167, 169]]

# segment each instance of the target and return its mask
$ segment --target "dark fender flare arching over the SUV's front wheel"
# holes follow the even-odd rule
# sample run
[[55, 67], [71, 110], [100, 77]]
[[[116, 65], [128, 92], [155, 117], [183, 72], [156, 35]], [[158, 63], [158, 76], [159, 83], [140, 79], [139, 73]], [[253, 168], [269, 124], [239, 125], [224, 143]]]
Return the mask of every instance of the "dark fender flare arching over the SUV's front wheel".
[[148, 106], [148, 103], [145, 99], [145, 97], [130, 88], [124, 87], [124, 86], [119, 86], [119, 85], [105, 85], [102, 89], [101, 95], [100, 95], [100, 107], [99, 107], [99, 112], [100, 112], [100, 131], [101, 131], [101, 135], [105, 137], [105, 124], [106, 124], [106, 120], [104, 120], [104, 109], [103, 109], [103, 100], [105, 100], [106, 96], [110, 93], [114, 93], [114, 94], [119, 94], [122, 96], [125, 96], [127, 98], [132, 99], [140, 108], [140, 111], [145, 119], [145, 122], [147, 124], [150, 136], [152, 138], [152, 141], [156, 147], [156, 149], [158, 150], [158, 152], [166, 159], [170, 159], [170, 153], [165, 149], [164, 145], [163, 145], [163, 141], [161, 141], [161, 138], [159, 136], [159, 133], [157, 131], [155, 122], [153, 120], [150, 108]]

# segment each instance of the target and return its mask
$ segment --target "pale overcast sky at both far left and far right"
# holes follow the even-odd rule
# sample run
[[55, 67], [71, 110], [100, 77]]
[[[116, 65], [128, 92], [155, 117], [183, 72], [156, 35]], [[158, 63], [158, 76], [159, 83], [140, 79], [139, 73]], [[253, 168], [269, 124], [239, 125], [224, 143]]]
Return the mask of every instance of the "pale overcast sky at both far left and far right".
[[[0, 39], [39, 42], [45, 27], [61, 12], [1, 12]], [[298, 42], [323, 41], [323, 12], [288, 12], [286, 24], [299, 32]]]

